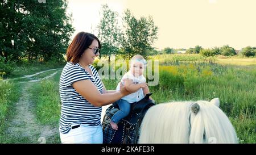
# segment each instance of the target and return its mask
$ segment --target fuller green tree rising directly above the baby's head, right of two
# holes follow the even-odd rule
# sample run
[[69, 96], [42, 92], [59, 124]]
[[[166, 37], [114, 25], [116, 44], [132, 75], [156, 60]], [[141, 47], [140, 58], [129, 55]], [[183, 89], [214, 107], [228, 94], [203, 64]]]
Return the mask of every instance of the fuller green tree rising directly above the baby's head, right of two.
[[135, 54], [147, 57], [147, 51], [154, 49], [152, 44], [158, 38], [158, 27], [151, 16], [136, 19], [129, 9], [123, 16], [123, 32], [121, 35], [122, 55], [129, 59]]

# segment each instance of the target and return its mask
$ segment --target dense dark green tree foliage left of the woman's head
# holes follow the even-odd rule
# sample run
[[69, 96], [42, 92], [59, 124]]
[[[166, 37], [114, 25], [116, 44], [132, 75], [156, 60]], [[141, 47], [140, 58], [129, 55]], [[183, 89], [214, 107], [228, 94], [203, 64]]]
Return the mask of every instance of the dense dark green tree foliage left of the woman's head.
[[74, 31], [66, 0], [2, 1], [0, 56], [6, 61], [63, 59]]

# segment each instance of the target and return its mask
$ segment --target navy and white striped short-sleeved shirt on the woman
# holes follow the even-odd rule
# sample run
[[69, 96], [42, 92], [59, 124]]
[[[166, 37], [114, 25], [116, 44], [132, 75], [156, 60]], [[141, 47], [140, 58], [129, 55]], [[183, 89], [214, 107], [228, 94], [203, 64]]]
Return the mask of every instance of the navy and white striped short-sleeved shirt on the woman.
[[89, 126], [101, 125], [101, 107], [95, 107], [88, 100], [83, 98], [74, 89], [72, 84], [76, 81], [89, 79], [102, 93], [104, 87], [97, 70], [89, 65], [92, 70], [91, 76], [82, 66], [68, 62], [60, 76], [60, 99], [61, 114], [60, 127], [61, 133], [68, 133], [72, 124], [83, 124]]

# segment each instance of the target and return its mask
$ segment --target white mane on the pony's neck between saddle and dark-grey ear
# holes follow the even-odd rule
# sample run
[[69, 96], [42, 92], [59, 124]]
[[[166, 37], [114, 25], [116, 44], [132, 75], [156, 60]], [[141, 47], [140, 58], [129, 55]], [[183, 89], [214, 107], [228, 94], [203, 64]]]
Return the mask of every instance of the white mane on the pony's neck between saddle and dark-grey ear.
[[162, 103], [143, 118], [138, 143], [188, 143], [192, 102]]

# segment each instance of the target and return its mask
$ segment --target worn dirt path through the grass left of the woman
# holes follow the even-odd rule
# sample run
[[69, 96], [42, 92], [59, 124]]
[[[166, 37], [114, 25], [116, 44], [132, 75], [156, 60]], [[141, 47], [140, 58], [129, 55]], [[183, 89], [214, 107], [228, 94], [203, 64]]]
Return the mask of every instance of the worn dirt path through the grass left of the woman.
[[[48, 78], [55, 74], [51, 74]], [[32, 82], [22, 83], [21, 97], [15, 105], [14, 116], [9, 120], [6, 129], [10, 143], [47, 143], [48, 137], [58, 133], [57, 128], [36, 122], [35, 103], [32, 102], [31, 94], [28, 92], [31, 86]]]

